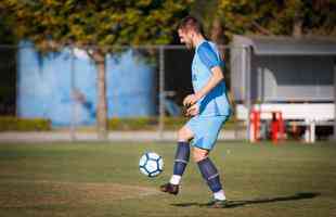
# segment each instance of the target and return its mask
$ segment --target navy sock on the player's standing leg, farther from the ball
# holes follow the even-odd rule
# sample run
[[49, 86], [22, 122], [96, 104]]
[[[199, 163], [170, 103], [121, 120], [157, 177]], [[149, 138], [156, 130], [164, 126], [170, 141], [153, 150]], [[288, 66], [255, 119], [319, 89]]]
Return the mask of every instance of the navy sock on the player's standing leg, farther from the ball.
[[214, 163], [207, 157], [197, 162], [197, 164], [203, 178], [207, 181], [211, 191], [214, 193], [220, 191], [222, 186], [220, 183], [218, 170]]

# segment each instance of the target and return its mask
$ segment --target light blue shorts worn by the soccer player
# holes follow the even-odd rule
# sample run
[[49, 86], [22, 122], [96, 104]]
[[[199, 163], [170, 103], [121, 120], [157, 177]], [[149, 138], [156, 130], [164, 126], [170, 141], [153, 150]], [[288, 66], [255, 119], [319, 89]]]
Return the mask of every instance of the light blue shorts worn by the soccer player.
[[192, 117], [185, 125], [194, 133], [192, 145], [199, 149], [212, 150], [218, 133], [228, 118], [229, 116]]

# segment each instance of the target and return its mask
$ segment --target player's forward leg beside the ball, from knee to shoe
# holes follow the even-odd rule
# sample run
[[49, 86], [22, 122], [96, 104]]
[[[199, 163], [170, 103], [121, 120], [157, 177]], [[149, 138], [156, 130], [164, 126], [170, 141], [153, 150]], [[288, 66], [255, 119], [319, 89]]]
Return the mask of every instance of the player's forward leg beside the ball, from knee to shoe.
[[160, 186], [160, 191], [171, 194], [179, 193], [179, 184], [190, 158], [189, 141], [193, 137], [193, 132], [186, 126], [179, 130], [178, 146], [173, 163], [173, 174], [168, 183]]

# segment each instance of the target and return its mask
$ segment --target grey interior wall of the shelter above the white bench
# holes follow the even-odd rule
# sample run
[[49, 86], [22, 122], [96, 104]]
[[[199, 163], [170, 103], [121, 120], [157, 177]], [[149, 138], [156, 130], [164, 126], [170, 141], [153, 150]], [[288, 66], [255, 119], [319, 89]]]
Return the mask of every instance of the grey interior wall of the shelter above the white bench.
[[253, 98], [264, 102], [333, 101], [333, 56], [254, 56]]

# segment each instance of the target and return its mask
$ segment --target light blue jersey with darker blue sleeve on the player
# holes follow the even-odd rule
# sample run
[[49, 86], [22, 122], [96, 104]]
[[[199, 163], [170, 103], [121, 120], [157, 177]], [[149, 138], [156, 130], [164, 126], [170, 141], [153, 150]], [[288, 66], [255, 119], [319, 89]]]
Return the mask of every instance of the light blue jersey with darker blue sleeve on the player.
[[[215, 43], [204, 41], [196, 47], [192, 63], [192, 81], [194, 92], [201, 90], [211, 77], [211, 68], [223, 66], [219, 51]], [[229, 116], [231, 114], [230, 103], [227, 97], [224, 80], [218, 84], [208, 94], [198, 102], [199, 116]]]

